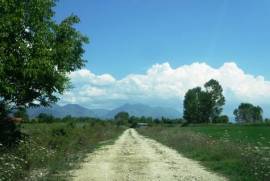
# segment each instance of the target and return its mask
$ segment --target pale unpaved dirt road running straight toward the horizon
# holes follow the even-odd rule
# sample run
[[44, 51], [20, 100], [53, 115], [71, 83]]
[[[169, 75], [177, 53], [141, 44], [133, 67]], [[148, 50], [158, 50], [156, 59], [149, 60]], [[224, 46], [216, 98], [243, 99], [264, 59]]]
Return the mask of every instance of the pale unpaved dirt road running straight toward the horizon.
[[72, 175], [80, 181], [226, 180], [134, 129], [126, 130], [115, 144], [90, 154]]

